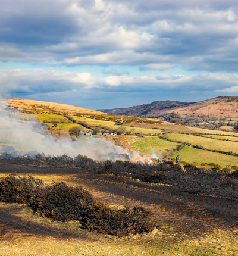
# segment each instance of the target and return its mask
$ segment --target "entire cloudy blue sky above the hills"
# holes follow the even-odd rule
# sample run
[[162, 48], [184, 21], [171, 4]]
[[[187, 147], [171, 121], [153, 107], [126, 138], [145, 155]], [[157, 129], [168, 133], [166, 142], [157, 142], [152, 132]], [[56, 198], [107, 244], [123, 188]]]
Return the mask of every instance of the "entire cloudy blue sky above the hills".
[[1, 0], [0, 95], [90, 109], [238, 95], [238, 1]]

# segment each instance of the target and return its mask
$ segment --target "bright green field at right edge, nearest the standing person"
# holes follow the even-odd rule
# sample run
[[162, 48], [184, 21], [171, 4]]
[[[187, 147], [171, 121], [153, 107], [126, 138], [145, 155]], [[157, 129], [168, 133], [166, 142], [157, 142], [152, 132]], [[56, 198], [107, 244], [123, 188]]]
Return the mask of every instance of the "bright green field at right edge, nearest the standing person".
[[197, 148], [183, 148], [181, 151], [172, 155], [170, 158], [175, 158], [176, 155], [180, 155], [181, 160], [190, 163], [216, 163], [221, 167], [236, 166], [238, 163], [238, 157], [232, 155], [219, 154], [211, 151], [205, 151]]

